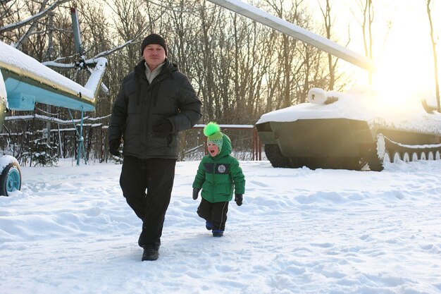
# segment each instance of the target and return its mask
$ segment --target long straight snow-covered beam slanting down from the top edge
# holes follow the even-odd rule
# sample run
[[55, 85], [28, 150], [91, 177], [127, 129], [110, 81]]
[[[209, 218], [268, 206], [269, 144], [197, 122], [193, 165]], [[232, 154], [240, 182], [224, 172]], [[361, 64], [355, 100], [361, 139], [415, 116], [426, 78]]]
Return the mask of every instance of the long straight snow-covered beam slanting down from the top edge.
[[355, 66], [359, 66], [366, 70], [373, 69], [373, 62], [371, 59], [368, 59], [366, 56], [358, 54], [352, 50], [347, 49], [346, 47], [342, 47], [341, 45], [332, 42], [330, 39], [326, 39], [325, 37], [321, 37], [320, 35], [316, 35], [313, 32], [309, 32], [298, 25], [294, 25], [286, 20], [282, 20], [282, 18], [278, 18], [276, 16], [272, 16], [270, 13], [262, 11], [259, 8], [251, 6], [249, 4], [245, 4], [242, 1], [236, 0], [209, 0], [213, 4], [217, 4], [219, 6], [223, 6], [224, 8], [229, 9], [230, 11], [234, 11], [235, 13], [242, 14], [242, 16], [246, 16], [251, 20], [256, 20], [263, 25], [271, 27], [275, 30], [283, 32], [287, 35], [290, 35], [296, 39], [305, 42], [306, 44], [310, 44], [313, 47], [321, 49], [329, 54], [333, 54], [344, 61], [348, 61], [349, 63], [354, 64]]

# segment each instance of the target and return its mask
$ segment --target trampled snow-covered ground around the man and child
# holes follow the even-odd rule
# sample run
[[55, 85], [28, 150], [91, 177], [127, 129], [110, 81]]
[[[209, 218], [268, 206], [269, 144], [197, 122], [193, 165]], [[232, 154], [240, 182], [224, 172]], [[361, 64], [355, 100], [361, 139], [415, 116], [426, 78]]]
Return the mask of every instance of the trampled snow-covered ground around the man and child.
[[120, 165], [23, 167], [0, 197], [0, 293], [441, 293], [441, 161], [381, 172], [242, 161], [225, 236], [196, 214], [178, 162], [160, 257], [141, 262]]

